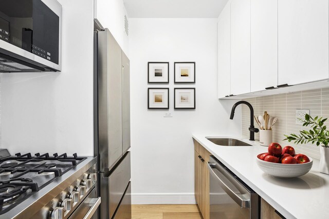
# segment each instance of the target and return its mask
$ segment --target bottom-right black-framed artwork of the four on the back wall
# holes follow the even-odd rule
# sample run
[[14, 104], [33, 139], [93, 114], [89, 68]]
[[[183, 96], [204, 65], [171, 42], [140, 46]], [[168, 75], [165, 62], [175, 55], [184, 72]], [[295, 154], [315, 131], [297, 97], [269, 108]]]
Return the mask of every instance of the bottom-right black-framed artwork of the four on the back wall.
[[195, 109], [195, 88], [175, 88], [174, 109]]

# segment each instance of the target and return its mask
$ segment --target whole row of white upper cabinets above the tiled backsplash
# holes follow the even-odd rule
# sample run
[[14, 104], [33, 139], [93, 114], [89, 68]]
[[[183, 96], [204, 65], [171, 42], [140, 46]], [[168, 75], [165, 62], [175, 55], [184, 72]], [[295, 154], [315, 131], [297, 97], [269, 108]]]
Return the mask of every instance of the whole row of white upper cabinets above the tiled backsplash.
[[325, 82], [328, 16], [328, 0], [228, 2], [218, 17], [218, 98], [280, 93], [258, 91], [307, 83], [290, 87], [297, 91]]

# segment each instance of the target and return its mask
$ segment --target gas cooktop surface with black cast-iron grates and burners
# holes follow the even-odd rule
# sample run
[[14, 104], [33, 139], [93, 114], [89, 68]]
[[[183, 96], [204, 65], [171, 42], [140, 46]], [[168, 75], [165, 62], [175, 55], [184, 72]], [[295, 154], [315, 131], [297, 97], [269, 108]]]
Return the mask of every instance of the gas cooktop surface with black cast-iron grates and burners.
[[[9, 155], [9, 154], [8, 154]], [[57, 153], [0, 156], [0, 215], [56, 180], [87, 157]]]

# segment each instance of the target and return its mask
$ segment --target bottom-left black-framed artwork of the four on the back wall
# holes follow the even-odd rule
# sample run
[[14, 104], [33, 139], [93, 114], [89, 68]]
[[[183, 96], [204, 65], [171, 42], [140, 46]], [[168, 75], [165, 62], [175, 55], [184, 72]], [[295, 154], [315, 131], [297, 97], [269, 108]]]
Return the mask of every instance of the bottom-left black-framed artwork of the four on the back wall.
[[148, 109], [169, 109], [169, 88], [148, 88]]

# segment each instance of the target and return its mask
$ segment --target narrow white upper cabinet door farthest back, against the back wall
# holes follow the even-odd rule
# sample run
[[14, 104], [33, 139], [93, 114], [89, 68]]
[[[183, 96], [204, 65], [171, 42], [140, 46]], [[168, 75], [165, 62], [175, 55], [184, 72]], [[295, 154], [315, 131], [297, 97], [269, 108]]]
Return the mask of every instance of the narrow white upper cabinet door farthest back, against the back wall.
[[231, 33], [230, 4], [228, 3], [218, 17], [218, 98], [230, 95], [231, 74]]

